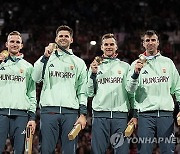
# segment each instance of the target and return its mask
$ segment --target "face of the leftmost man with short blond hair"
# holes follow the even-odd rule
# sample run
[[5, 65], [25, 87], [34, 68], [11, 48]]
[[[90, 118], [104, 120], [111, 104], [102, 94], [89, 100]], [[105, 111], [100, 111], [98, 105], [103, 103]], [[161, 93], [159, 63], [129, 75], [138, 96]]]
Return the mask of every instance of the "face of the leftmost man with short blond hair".
[[18, 55], [23, 47], [22, 38], [17, 34], [9, 35], [5, 45], [8, 48], [10, 55]]

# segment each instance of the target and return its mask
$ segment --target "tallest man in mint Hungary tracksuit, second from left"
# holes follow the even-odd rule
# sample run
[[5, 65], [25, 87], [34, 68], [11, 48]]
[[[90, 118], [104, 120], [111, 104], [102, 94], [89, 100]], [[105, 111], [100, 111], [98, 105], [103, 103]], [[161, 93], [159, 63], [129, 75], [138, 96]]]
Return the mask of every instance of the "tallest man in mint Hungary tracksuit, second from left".
[[70, 44], [73, 30], [65, 25], [56, 31], [56, 43], [50, 43], [34, 65], [33, 79], [43, 81], [40, 97], [41, 153], [52, 154], [60, 137], [62, 153], [75, 154], [77, 138], [68, 139], [74, 125], [86, 125], [87, 68], [75, 56]]

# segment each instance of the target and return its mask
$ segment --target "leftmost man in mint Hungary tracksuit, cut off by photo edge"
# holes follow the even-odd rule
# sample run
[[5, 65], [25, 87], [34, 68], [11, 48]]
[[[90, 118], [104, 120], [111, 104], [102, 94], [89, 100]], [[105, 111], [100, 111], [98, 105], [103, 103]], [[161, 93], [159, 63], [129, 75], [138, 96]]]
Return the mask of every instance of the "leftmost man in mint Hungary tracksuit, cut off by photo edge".
[[21, 34], [11, 32], [6, 47], [9, 56], [0, 54], [0, 153], [6, 138], [13, 139], [15, 154], [24, 153], [26, 127], [35, 131], [36, 89], [31, 78], [33, 66], [23, 59]]

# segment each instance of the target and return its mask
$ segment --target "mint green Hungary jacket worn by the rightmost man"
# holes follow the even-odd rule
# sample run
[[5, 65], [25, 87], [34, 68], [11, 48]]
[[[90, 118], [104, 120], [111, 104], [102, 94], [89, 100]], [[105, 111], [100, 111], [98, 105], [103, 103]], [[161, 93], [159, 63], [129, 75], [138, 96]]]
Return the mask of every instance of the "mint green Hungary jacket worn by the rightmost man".
[[172, 95], [180, 101], [180, 77], [173, 61], [160, 53], [147, 57], [140, 74], [134, 73], [136, 61], [128, 75], [127, 91], [135, 92], [135, 107], [139, 112], [173, 111]]

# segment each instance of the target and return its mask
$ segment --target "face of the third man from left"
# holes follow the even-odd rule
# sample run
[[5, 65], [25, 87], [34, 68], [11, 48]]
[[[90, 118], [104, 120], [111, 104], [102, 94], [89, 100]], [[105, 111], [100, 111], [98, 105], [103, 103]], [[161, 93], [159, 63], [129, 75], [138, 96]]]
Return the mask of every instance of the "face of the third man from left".
[[118, 49], [114, 38], [105, 38], [102, 40], [101, 50], [105, 57], [112, 57]]

